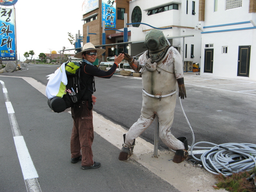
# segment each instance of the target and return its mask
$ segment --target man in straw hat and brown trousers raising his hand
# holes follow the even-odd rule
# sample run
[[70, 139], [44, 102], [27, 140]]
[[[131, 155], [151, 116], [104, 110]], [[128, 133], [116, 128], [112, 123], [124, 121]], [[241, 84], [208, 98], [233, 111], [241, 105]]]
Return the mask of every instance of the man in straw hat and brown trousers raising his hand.
[[[124, 54], [115, 56], [115, 63], [108, 71], [100, 70], [92, 65], [97, 56], [104, 53], [104, 49], [96, 49], [92, 43], [86, 43], [83, 50], [77, 53], [74, 57], [83, 59], [82, 70], [80, 72], [80, 87], [81, 92], [84, 89], [84, 95], [78, 105], [71, 108], [72, 118], [74, 120], [70, 149], [71, 163], [82, 161], [82, 169], [96, 169], [100, 167], [100, 163], [93, 161], [92, 141], [93, 141], [93, 124], [92, 124], [92, 103], [96, 102], [94, 76], [102, 78], [110, 78], [118, 64], [124, 59]], [[81, 153], [81, 152], [82, 153]]]

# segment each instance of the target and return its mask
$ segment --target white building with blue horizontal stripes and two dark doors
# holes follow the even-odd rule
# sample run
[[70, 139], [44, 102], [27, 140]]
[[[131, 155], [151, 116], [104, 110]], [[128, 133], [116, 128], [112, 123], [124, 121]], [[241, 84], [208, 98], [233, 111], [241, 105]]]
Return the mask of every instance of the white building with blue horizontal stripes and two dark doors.
[[256, 81], [256, 0], [200, 0], [199, 5], [201, 75]]

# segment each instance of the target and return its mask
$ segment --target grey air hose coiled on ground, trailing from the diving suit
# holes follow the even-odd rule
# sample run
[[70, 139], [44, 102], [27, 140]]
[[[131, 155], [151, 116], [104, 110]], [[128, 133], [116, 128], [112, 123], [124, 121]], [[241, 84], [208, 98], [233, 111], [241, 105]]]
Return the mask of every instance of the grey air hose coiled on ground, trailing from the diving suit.
[[[179, 90], [179, 87], [178, 89]], [[178, 93], [178, 92], [177, 92]], [[181, 104], [181, 99], [179, 97], [180, 107], [183, 112], [184, 117], [190, 128], [192, 134], [192, 145], [188, 150], [191, 151], [191, 155], [197, 161], [202, 161], [204, 168], [215, 175], [222, 174], [225, 177], [232, 175], [232, 173], [237, 173], [241, 171], [251, 171], [256, 165], [256, 145], [251, 143], [225, 143], [221, 145], [216, 145], [211, 142], [197, 142], [195, 143], [195, 135], [192, 127], [188, 121], [188, 118], [184, 112]], [[210, 144], [214, 147], [196, 147], [198, 144]], [[193, 154], [193, 149], [210, 149], [201, 155], [198, 159]], [[175, 152], [171, 150], [172, 152]], [[236, 160], [234, 160], [236, 159]]]

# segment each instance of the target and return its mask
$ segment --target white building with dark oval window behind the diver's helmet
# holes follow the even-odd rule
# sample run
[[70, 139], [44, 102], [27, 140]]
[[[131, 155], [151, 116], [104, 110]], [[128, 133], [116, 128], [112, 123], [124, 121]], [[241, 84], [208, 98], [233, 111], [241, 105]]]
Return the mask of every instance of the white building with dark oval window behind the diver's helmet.
[[[129, 3], [128, 23], [146, 23], [155, 28], [169, 28], [162, 31], [170, 44], [178, 49], [182, 57], [184, 52], [184, 61], [192, 61], [191, 64], [199, 63], [201, 31], [194, 29], [198, 24], [198, 0], [131, 0]], [[144, 45], [145, 35], [153, 29], [148, 25], [127, 26], [128, 31], [131, 31], [128, 42], [132, 42], [128, 54], [136, 56], [147, 50]], [[117, 31], [116, 33], [120, 32]], [[194, 36], [184, 38], [184, 48], [183, 38], [172, 39], [172, 37], [191, 35]], [[122, 42], [122, 40], [123, 37], [118, 37], [116, 43]], [[192, 71], [192, 67], [190, 69]]]

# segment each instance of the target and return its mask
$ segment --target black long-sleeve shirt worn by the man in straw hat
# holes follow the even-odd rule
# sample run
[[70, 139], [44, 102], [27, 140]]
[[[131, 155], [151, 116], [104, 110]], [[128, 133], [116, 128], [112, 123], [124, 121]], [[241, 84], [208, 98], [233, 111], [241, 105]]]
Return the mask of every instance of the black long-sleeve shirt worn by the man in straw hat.
[[84, 68], [83, 70], [80, 71], [80, 79], [83, 82], [83, 84], [80, 83], [80, 87], [81, 87], [81, 90], [83, 90], [84, 84], [87, 84], [87, 89], [91, 93], [93, 93], [93, 83], [91, 83], [93, 76], [109, 79], [113, 76], [117, 68], [116, 63], [114, 63], [113, 66], [108, 71], [100, 70], [99, 68], [86, 64], [85, 62], [83, 62], [83, 64], [84, 64]]

